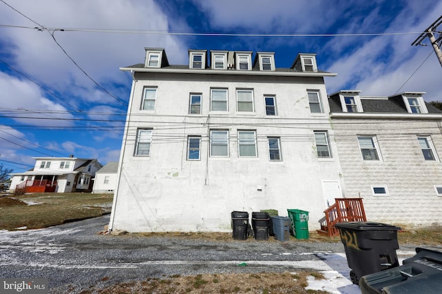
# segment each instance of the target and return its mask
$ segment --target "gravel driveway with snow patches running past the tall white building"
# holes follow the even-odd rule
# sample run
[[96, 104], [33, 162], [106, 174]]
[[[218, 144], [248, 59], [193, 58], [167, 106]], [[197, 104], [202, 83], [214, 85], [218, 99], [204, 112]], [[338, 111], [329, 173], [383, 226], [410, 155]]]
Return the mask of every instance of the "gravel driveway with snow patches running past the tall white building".
[[50, 293], [175, 274], [313, 268], [332, 269], [348, 278], [340, 242], [217, 242], [97, 234], [108, 219], [107, 215], [40, 230], [0, 231], [0, 277], [46, 278]]

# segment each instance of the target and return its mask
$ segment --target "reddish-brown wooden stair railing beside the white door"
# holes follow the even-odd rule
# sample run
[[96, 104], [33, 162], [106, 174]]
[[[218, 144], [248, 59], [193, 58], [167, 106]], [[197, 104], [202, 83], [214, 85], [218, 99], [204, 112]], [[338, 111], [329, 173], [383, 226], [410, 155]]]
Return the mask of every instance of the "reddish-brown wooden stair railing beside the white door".
[[335, 204], [324, 210], [325, 218], [318, 233], [329, 237], [339, 235], [339, 222], [367, 222], [362, 198], [336, 198]]

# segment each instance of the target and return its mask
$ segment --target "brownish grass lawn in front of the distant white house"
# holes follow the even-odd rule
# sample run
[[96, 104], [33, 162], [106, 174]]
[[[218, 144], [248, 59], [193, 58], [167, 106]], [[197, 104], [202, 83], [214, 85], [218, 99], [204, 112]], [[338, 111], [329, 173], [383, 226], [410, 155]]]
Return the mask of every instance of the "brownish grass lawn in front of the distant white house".
[[32, 193], [0, 197], [0, 229], [46, 228], [111, 212], [113, 194]]

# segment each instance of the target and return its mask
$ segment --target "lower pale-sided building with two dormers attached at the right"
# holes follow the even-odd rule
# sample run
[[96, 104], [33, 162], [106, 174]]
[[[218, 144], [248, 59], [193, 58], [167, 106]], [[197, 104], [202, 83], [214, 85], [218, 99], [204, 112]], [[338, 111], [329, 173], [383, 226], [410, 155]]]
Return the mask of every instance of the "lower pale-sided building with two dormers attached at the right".
[[347, 197], [363, 197], [367, 219], [441, 226], [442, 112], [424, 92], [329, 97]]

